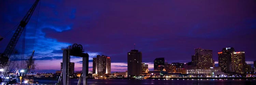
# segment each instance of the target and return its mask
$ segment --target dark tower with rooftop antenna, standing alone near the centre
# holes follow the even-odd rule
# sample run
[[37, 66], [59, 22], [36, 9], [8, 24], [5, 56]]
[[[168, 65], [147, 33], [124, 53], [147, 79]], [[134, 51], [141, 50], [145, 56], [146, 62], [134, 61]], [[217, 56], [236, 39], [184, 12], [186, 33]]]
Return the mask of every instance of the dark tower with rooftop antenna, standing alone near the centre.
[[142, 53], [138, 50], [131, 50], [127, 53], [128, 77], [142, 75]]

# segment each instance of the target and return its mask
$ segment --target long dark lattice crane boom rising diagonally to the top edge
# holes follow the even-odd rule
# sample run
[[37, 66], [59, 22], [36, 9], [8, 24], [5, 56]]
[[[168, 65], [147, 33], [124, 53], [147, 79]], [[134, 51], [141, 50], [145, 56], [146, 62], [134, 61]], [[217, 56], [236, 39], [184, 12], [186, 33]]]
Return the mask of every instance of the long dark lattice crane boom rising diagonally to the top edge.
[[32, 7], [29, 9], [25, 17], [20, 21], [19, 26], [17, 27], [15, 33], [13, 34], [9, 44], [5, 48], [4, 52], [0, 54], [0, 67], [4, 67], [7, 62], [9, 61], [9, 58], [19, 40], [20, 35], [22, 34], [23, 30], [25, 29], [29, 19], [31, 18], [35, 7], [37, 6], [38, 2], [40, 0], [36, 0]]

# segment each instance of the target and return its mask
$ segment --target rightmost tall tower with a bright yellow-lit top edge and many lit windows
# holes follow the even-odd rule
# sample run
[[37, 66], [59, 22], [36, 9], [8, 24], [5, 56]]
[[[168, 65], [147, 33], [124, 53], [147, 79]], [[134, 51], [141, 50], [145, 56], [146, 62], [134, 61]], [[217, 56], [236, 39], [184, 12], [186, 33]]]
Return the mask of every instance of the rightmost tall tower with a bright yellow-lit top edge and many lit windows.
[[233, 52], [231, 54], [232, 72], [244, 73], [245, 72], [245, 54], [244, 51]]

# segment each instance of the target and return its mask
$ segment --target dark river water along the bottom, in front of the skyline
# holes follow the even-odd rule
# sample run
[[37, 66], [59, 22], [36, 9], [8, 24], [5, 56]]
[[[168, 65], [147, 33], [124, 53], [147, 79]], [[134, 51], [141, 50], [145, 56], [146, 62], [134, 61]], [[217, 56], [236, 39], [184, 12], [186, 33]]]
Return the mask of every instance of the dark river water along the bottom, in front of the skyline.
[[[57, 80], [38, 80], [40, 84], [55, 84]], [[71, 79], [70, 85], [77, 85], [78, 79]], [[255, 79], [88, 79], [88, 85], [256, 85]], [[82, 85], [82, 83], [81, 83]]]

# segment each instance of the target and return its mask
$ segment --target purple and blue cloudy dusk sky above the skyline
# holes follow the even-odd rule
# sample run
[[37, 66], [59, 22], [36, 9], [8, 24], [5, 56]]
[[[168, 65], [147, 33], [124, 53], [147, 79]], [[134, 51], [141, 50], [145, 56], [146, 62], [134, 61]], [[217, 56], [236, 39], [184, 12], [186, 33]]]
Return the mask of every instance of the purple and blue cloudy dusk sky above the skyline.
[[[5, 37], [0, 41], [1, 53], [14, 31], [5, 34], [22, 20], [34, 1], [0, 1], [0, 36]], [[168, 63], [191, 62], [199, 47], [213, 50], [215, 63], [217, 52], [234, 47], [245, 51], [246, 62], [252, 64], [256, 60], [256, 1], [41, 0], [24, 33], [26, 37], [23, 34], [15, 47], [19, 54], [12, 57], [20, 57], [25, 39], [25, 58], [35, 50], [35, 71], [39, 72], [60, 70], [60, 48], [74, 43], [83, 45], [89, 54], [89, 71], [93, 57], [107, 55], [111, 71], [124, 72], [133, 44], [150, 70], [157, 57], [165, 57]], [[82, 58], [71, 58], [75, 71], [82, 70]]]

